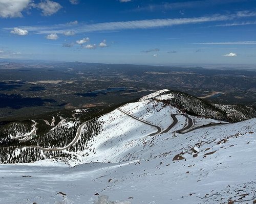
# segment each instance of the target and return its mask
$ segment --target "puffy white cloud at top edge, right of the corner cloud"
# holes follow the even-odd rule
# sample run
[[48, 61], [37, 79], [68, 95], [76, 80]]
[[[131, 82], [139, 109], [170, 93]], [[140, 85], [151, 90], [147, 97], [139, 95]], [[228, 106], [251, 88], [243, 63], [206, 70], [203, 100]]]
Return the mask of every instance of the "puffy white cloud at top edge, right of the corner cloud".
[[42, 15], [44, 16], [51, 16], [62, 8], [62, 6], [59, 3], [50, 0], [42, 1], [39, 4], [31, 4], [31, 6], [34, 8], [41, 9]]

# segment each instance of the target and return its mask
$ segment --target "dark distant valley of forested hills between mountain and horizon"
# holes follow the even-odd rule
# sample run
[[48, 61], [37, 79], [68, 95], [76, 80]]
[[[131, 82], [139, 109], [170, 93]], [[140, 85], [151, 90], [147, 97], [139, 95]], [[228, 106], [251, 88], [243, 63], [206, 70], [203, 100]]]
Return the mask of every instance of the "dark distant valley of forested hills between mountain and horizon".
[[62, 109], [108, 107], [163, 88], [219, 104], [255, 106], [255, 84], [256, 72], [242, 69], [2, 62], [0, 120]]

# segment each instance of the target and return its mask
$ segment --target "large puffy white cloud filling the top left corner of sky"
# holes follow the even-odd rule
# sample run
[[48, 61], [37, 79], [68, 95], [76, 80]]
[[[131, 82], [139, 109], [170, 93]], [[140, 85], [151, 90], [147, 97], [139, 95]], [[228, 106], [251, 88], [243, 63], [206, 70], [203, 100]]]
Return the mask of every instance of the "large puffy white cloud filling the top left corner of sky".
[[0, 17], [14, 18], [22, 17], [22, 11], [29, 7], [31, 0], [1, 0]]

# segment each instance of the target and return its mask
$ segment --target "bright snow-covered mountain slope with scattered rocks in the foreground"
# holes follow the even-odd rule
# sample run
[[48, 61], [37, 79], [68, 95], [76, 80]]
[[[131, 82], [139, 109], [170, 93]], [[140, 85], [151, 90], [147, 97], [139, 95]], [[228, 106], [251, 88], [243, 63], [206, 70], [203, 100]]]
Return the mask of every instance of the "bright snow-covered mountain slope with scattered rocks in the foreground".
[[[172, 95], [160, 95], [101, 116], [103, 130], [88, 143], [94, 150], [74, 152], [72, 167], [0, 165], [0, 203], [253, 203], [256, 119], [219, 124], [182, 115], [153, 99]], [[178, 123], [166, 132], [172, 115]], [[218, 124], [202, 126], [209, 123]]]

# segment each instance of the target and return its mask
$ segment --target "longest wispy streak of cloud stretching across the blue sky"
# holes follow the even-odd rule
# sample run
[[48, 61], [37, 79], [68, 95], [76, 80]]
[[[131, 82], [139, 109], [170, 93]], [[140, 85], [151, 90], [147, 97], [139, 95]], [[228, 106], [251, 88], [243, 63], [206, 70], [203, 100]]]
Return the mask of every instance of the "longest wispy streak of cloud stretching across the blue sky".
[[[121, 31], [121, 30], [132, 30], [132, 29], [156, 29], [172, 27], [174, 25], [183, 24], [196, 24], [196, 23], [207, 23], [207, 22], [220, 22], [227, 20], [234, 20], [244, 17], [245, 15], [256, 16], [253, 12], [243, 12], [228, 15], [210, 15], [195, 18], [164, 18], [164, 19], [145, 19], [145, 20], [132, 20], [132, 21], [117, 21], [117, 22], [102, 22], [93, 24], [82, 24], [76, 23], [63, 23], [56, 24], [52, 26], [29, 26], [29, 27], [19, 27], [20, 29], [26, 29], [29, 32], [34, 32], [36, 34], [63, 34], [67, 31], [74, 31], [75, 33], [89, 33], [89, 32], [110, 32], [110, 31]], [[11, 30], [12, 28], [4, 28], [5, 30]]]

